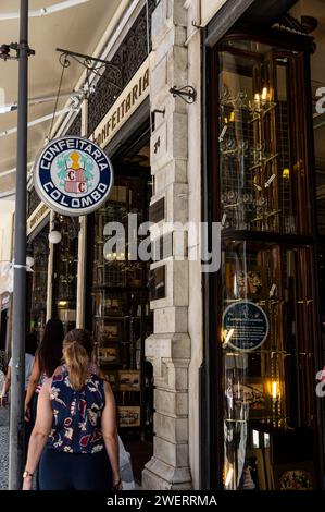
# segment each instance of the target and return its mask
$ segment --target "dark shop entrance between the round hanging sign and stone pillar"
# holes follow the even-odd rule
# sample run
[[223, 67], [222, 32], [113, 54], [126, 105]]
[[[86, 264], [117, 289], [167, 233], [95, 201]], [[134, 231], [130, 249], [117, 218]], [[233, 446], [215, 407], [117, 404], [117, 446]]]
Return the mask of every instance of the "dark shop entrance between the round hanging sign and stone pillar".
[[[135, 253], [136, 228], [149, 220], [151, 175], [149, 136], [138, 137], [112, 159], [114, 186], [108, 203], [89, 219], [88, 328], [96, 359], [105, 373], [117, 405], [118, 434], [130, 452], [135, 477], [152, 455], [152, 367], [145, 340], [152, 332], [149, 265]], [[116, 230], [110, 223], [118, 223]], [[125, 243], [122, 240], [125, 233]], [[110, 236], [114, 235], [114, 243]], [[132, 240], [130, 240], [132, 236]]]

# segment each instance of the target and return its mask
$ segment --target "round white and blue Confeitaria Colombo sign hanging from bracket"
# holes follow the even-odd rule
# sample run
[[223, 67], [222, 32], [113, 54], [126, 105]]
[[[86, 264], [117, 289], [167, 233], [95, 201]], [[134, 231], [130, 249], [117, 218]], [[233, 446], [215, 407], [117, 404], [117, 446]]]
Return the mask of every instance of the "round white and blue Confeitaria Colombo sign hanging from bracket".
[[113, 185], [113, 168], [103, 150], [88, 138], [53, 138], [39, 155], [35, 190], [58, 214], [74, 217], [95, 211]]

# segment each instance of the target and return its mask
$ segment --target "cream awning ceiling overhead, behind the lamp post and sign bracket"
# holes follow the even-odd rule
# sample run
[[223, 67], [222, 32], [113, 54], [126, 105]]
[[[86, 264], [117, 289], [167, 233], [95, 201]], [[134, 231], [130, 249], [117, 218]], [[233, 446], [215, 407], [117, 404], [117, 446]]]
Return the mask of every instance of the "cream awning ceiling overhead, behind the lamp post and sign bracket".
[[[47, 8], [62, 0], [29, 0], [29, 10]], [[36, 52], [29, 58], [28, 97], [52, 96], [58, 92], [61, 75], [59, 53], [55, 48], [70, 49], [79, 53], [92, 54], [109, 22], [121, 1], [88, 0], [41, 17], [29, 19], [29, 47]], [[1, 14], [20, 10], [20, 0], [1, 0]], [[0, 20], [0, 45], [18, 41], [18, 20]], [[10, 103], [17, 99], [17, 61], [0, 60], [0, 102]], [[72, 61], [65, 70], [62, 92], [74, 89], [84, 69]], [[2, 89], [2, 90], [1, 90]], [[59, 100], [58, 110], [63, 108], [66, 97]], [[28, 121], [51, 114], [54, 101], [34, 105], [28, 108]], [[0, 134], [16, 126], [16, 112], [0, 114]], [[51, 121], [28, 129], [27, 161], [33, 161], [43, 145]], [[1, 178], [1, 173], [16, 166], [16, 134], [0, 136], [0, 193], [14, 188], [15, 173]]]

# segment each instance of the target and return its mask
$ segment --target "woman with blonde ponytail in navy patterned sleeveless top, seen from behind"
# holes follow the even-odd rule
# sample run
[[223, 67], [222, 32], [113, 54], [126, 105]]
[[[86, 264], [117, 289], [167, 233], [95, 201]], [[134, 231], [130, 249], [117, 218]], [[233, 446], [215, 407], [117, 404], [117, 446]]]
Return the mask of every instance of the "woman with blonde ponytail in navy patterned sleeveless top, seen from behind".
[[65, 363], [39, 394], [24, 490], [39, 462], [40, 490], [121, 489], [115, 401], [91, 363], [92, 341], [84, 329], [70, 331]]

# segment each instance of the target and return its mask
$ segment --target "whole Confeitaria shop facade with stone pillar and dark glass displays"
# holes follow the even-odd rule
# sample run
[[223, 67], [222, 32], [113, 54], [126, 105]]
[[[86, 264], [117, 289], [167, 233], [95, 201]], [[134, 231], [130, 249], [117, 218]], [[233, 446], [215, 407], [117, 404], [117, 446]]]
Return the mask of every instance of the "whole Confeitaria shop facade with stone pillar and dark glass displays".
[[[39, 324], [93, 333], [146, 489], [276, 489], [285, 467], [322, 486], [317, 38], [303, 2], [280, 3], [138, 2], [103, 52], [115, 68], [61, 132], [109, 155], [111, 197], [87, 218], [30, 211], [35, 247], [61, 233]], [[108, 245], [129, 214], [153, 222], [163, 255]], [[210, 263], [189, 222], [208, 223]]]

